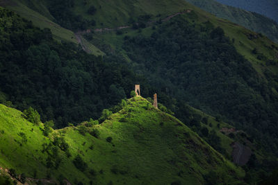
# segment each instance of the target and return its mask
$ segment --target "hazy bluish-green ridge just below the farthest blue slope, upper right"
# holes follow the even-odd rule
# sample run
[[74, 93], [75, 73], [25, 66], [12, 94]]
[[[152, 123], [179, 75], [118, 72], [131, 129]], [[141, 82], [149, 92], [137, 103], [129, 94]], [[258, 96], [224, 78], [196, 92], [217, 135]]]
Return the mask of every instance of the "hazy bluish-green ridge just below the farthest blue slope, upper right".
[[276, 21], [260, 15], [256, 12], [248, 12], [240, 8], [226, 6], [217, 1], [203, 1], [203, 0], [186, 0], [193, 3], [195, 6], [211, 12], [217, 17], [228, 19], [236, 24], [244, 26], [256, 33], [263, 33], [274, 42], [278, 43], [278, 24]]

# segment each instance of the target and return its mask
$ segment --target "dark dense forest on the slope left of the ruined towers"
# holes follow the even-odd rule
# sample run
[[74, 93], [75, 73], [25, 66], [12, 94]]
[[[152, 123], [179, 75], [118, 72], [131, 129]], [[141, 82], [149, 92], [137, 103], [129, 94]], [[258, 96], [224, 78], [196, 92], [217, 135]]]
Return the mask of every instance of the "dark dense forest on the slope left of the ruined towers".
[[[121, 64], [55, 42], [49, 30], [6, 9], [0, 9], [0, 17], [0, 88], [18, 109], [32, 106], [42, 121], [65, 127], [99, 118], [102, 109], [119, 103], [133, 88], [136, 76]], [[39, 122], [33, 109], [24, 113]]]

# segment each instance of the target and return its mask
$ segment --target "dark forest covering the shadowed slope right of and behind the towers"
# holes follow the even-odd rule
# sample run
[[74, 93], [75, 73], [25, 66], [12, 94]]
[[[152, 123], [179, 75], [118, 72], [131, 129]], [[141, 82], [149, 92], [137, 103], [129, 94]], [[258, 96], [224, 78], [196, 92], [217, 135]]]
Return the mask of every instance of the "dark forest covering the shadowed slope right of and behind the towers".
[[272, 91], [278, 90], [277, 83], [260, 78], [222, 28], [175, 17], [150, 37], [124, 37], [122, 48], [136, 62], [133, 70], [149, 78], [160, 101], [182, 121], [186, 122], [184, 103], [223, 115], [278, 155], [278, 96]]

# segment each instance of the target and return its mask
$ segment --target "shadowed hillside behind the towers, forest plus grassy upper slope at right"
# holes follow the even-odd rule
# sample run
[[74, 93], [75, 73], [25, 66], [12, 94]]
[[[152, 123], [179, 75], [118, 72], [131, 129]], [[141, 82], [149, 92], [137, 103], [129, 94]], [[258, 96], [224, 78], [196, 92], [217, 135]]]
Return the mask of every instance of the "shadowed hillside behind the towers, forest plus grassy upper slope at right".
[[92, 41], [103, 37], [159, 94], [176, 98], [163, 104], [181, 120], [183, 103], [190, 103], [234, 121], [276, 153], [277, 45], [229, 21], [203, 16], [192, 10], [147, 28], [94, 33]]

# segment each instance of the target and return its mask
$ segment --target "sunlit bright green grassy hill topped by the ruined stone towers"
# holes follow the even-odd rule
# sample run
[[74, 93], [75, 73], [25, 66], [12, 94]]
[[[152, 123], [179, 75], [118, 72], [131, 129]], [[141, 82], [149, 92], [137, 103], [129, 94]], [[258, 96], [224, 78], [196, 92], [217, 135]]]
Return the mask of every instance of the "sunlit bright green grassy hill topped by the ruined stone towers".
[[0, 124], [0, 166], [26, 181], [237, 184], [244, 175], [177, 118], [140, 97], [123, 100], [122, 109], [99, 125], [84, 122], [49, 136], [45, 125], [4, 105]]

